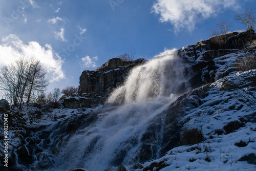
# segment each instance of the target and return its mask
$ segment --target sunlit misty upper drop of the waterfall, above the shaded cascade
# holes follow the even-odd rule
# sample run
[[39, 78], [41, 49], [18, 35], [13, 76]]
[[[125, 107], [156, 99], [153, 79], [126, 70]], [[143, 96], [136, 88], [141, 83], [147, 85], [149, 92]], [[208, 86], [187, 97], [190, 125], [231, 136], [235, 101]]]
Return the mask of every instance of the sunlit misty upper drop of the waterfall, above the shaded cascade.
[[124, 85], [111, 94], [108, 102], [142, 103], [184, 93], [190, 87], [185, 79], [185, 67], [183, 59], [177, 57], [176, 49], [166, 50], [146, 65], [133, 69]]

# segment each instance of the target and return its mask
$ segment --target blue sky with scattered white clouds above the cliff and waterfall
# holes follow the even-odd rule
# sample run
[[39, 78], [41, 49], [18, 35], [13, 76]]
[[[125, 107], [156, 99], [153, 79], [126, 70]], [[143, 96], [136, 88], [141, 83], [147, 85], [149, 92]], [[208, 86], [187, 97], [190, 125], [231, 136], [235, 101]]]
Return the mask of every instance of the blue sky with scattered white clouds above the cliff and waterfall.
[[48, 71], [49, 91], [78, 86], [124, 52], [151, 59], [164, 49], [209, 38], [221, 19], [243, 30], [234, 15], [254, 0], [0, 0], [0, 67], [35, 56]]

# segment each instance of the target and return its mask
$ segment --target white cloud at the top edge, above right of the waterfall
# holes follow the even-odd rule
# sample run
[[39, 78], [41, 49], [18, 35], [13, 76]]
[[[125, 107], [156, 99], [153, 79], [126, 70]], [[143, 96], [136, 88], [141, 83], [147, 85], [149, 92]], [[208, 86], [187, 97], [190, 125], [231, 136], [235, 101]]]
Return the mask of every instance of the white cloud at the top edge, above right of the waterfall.
[[160, 15], [161, 22], [169, 22], [175, 32], [185, 28], [193, 31], [200, 20], [224, 11], [239, 8], [238, 0], [157, 0], [152, 12]]

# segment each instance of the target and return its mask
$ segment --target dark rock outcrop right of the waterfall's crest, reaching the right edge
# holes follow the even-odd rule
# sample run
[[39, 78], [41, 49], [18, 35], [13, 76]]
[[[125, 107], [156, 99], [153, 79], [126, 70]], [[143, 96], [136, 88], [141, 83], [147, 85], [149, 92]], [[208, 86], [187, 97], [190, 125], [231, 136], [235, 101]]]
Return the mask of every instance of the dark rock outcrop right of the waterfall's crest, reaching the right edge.
[[254, 39], [256, 39], [256, 34], [253, 30], [248, 30], [211, 37], [207, 40], [201, 40], [196, 45], [181, 48], [179, 50], [180, 56], [195, 62], [191, 66], [191, 72], [194, 73], [190, 79], [191, 87], [194, 89], [203, 84], [215, 82], [216, 79], [223, 78], [235, 71], [235, 69], [230, 68], [215, 78], [219, 64], [215, 62], [215, 58], [241, 52], [241, 50], [249, 47]]

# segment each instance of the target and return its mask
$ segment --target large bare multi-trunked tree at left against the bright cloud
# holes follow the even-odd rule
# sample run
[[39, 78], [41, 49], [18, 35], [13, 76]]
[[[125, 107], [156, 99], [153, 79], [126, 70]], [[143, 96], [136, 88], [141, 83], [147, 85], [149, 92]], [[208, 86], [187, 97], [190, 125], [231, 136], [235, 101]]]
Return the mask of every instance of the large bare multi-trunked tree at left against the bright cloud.
[[3, 67], [1, 71], [0, 88], [8, 92], [11, 104], [19, 108], [24, 100], [27, 99], [29, 102], [32, 91], [42, 90], [48, 86], [46, 72], [34, 58], [21, 57], [8, 67]]

